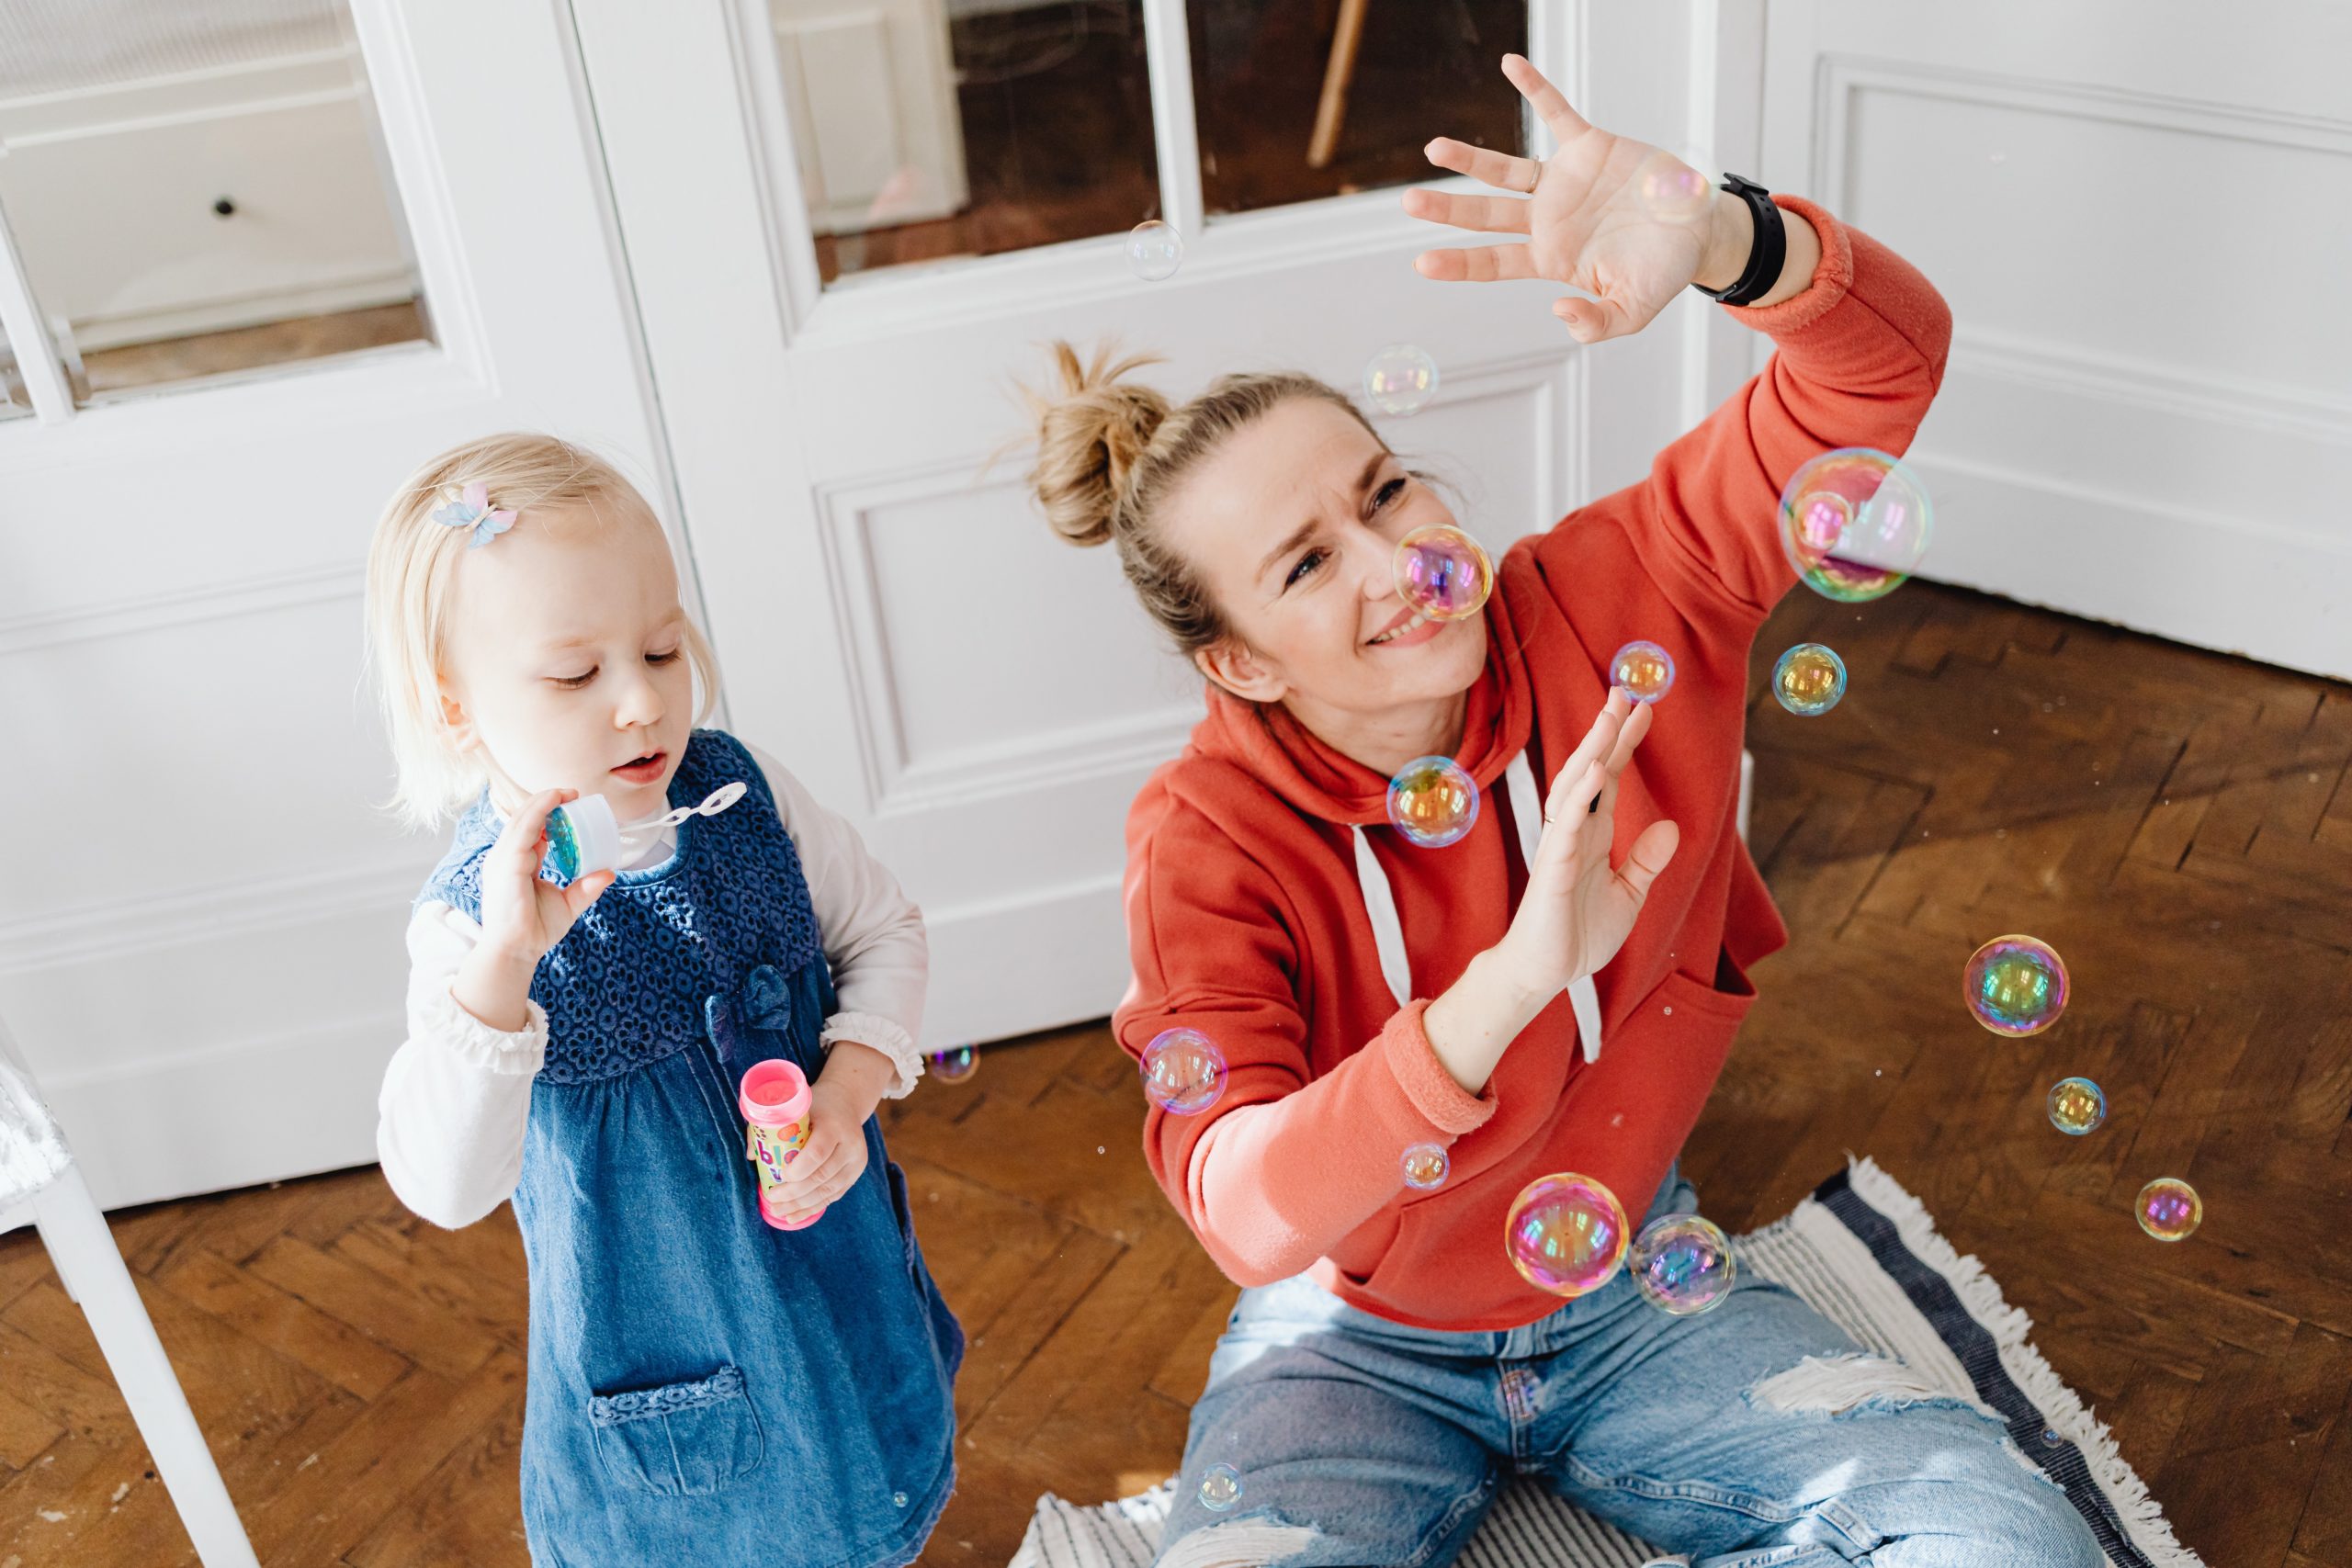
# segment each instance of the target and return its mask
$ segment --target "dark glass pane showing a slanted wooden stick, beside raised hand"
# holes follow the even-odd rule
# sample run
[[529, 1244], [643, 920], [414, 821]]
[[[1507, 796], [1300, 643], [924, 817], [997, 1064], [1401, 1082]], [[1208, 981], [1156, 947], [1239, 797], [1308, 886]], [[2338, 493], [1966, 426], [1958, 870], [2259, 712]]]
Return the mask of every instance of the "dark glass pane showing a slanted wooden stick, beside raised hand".
[[1526, 0], [1192, 0], [1192, 99], [1211, 214], [1437, 176], [1432, 136], [1519, 153], [1503, 54]]

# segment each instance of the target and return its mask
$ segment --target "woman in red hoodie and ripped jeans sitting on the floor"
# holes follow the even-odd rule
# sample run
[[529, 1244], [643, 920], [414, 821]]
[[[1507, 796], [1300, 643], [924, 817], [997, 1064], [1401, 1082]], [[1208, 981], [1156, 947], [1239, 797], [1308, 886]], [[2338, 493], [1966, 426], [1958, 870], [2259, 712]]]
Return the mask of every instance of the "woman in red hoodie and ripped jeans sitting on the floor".
[[[1451, 517], [1329, 386], [1228, 376], [1171, 409], [1063, 346], [1040, 404], [1049, 520], [1115, 541], [1209, 677], [1209, 717], [1129, 818], [1115, 1018], [1129, 1053], [1185, 1025], [1230, 1065], [1211, 1110], [1145, 1124], [1169, 1199], [1247, 1286], [1160, 1561], [1446, 1563], [1508, 1474], [1538, 1474], [1705, 1568], [2089, 1568], [2089, 1528], [1992, 1418], [1788, 1291], [1677, 1319], [1625, 1274], [1562, 1305], [1505, 1260], [1503, 1215], [1550, 1171], [1599, 1178], [1635, 1222], [1696, 1208], [1675, 1154], [1745, 969], [1788, 940], [1733, 832], [1748, 651], [1795, 585], [1776, 498], [1823, 449], [1910, 442], [1950, 315], [1811, 202], [1651, 216], [1653, 148], [1524, 59], [1503, 71], [1559, 150], [1442, 139], [1430, 162], [1529, 200], [1404, 200], [1526, 242], [1421, 273], [1588, 289], [1552, 308], [1581, 343], [1696, 282], [1778, 355], [1646, 482], [1515, 545], [1482, 618], [1397, 597], [1397, 541]], [[1609, 691], [1635, 637], [1679, 672], [1656, 710]], [[1430, 752], [1484, 795], [1449, 849], [1385, 825], [1390, 776]], [[1425, 1192], [1399, 1178], [1423, 1143], [1451, 1154]], [[1200, 1500], [1211, 1465], [1242, 1479], [1225, 1512]]]

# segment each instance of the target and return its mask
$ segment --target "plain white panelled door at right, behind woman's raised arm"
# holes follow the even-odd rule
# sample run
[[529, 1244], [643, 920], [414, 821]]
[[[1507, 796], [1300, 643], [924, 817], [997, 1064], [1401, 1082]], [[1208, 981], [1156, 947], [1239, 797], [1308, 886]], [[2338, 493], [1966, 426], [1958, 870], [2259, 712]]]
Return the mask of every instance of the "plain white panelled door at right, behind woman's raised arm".
[[1952, 301], [1926, 574], [2352, 677], [2352, 12], [1776, 0], [1764, 179]]

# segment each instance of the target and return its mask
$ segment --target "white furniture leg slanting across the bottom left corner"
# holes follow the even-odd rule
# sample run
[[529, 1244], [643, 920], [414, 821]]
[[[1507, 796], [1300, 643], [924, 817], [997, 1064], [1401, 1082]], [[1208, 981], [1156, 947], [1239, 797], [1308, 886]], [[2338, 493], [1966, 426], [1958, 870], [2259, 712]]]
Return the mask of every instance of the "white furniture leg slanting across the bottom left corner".
[[66, 1295], [80, 1302], [82, 1316], [89, 1319], [89, 1333], [96, 1335], [106, 1368], [122, 1389], [122, 1403], [139, 1422], [139, 1436], [146, 1439], [155, 1474], [162, 1476], [172, 1507], [195, 1542], [198, 1561], [205, 1568], [259, 1568], [221, 1469], [212, 1462], [212, 1448], [205, 1446], [172, 1359], [162, 1354], [155, 1324], [139, 1300], [132, 1272], [122, 1265], [106, 1215], [82, 1182], [80, 1166], [66, 1166], [64, 1175], [33, 1197], [33, 1225], [49, 1248]]

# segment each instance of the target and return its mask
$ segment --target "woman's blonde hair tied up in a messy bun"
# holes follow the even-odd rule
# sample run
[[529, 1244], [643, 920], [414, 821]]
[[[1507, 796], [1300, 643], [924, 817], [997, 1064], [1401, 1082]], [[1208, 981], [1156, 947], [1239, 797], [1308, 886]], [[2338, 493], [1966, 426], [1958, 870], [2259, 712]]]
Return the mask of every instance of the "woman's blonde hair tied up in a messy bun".
[[[1345, 409], [1371, 440], [1381, 440], [1345, 393], [1303, 371], [1218, 376], [1192, 402], [1171, 404], [1124, 378], [1157, 364], [1157, 355], [1112, 360], [1110, 348], [1098, 348], [1094, 360], [1080, 360], [1061, 341], [1051, 353], [1054, 386], [1044, 393], [1023, 388], [1037, 421], [1030, 489], [1044, 520], [1073, 545], [1120, 548], [1120, 567], [1136, 597], [1185, 658], [1225, 639], [1225, 618], [1200, 574], [1157, 529], [1162, 503], [1185, 475], [1230, 435], [1291, 397]], [[1381, 447], [1385, 451], [1388, 442]]]

